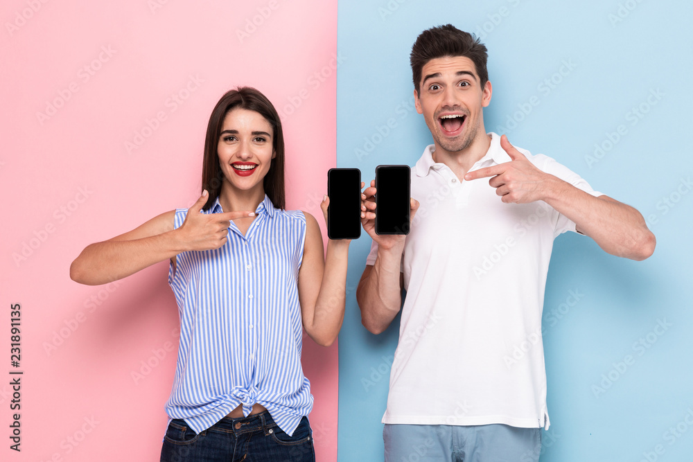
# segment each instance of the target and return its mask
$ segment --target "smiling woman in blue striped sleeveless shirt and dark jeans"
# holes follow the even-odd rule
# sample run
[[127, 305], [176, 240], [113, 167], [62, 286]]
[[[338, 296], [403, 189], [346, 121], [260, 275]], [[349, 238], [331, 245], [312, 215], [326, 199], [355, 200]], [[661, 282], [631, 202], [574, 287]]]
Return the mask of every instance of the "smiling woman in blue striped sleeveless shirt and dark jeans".
[[217, 103], [203, 162], [191, 208], [89, 245], [71, 278], [103, 284], [170, 259], [181, 335], [161, 461], [314, 461], [301, 337], [337, 337], [350, 241], [328, 241], [325, 264], [315, 218], [284, 210], [281, 121], [256, 89]]

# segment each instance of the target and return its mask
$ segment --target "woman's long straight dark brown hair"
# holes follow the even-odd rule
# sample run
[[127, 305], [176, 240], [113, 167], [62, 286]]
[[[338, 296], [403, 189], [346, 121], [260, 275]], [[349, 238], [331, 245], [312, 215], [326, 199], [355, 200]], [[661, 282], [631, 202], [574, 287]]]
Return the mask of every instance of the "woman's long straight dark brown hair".
[[286, 207], [286, 194], [284, 192], [284, 136], [281, 132], [281, 120], [270, 100], [253, 87], [238, 87], [228, 91], [221, 97], [209, 116], [202, 159], [202, 190], [207, 189], [209, 198], [203, 208], [208, 210], [221, 192], [224, 174], [219, 166], [217, 146], [224, 118], [236, 107], [257, 112], [272, 125], [274, 130], [272, 148], [276, 155], [270, 163], [270, 170], [263, 179], [263, 187], [272, 204], [283, 210]]

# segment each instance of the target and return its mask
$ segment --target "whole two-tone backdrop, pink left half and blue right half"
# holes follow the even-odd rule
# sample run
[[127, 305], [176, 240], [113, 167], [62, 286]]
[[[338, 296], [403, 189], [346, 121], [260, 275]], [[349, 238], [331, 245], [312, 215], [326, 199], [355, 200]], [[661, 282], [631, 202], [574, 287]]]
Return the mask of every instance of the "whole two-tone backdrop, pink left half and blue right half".
[[[541, 461], [690, 460], [692, 15], [674, 0], [4, 2], [0, 459], [158, 460], [178, 338], [168, 267], [87, 287], [69, 264], [198, 197], [209, 113], [238, 85], [279, 110], [288, 208], [324, 229], [328, 168], [369, 181], [430, 143], [408, 58], [421, 30], [450, 22], [489, 48], [486, 129], [635, 206], [658, 239], [640, 263], [556, 240]], [[319, 461], [383, 459], [398, 321], [378, 336], [361, 326], [369, 246], [364, 233], [351, 247], [338, 344], [304, 339]]]

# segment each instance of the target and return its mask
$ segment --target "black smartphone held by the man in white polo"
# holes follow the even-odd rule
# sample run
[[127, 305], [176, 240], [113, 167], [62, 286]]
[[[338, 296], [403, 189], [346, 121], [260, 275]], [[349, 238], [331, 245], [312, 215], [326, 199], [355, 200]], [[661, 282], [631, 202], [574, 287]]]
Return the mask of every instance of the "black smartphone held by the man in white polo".
[[376, 167], [376, 234], [409, 234], [409, 166]]

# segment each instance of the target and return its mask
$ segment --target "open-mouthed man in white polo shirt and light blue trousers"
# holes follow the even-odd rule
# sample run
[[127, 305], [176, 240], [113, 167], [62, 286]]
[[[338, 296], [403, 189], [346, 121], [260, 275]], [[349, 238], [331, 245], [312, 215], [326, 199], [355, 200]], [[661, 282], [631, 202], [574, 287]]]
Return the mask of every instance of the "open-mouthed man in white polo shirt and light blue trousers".
[[[362, 195], [374, 241], [357, 291], [364, 326], [383, 332], [407, 293], [385, 461], [538, 460], [549, 426], [541, 311], [554, 238], [577, 231], [634, 260], [655, 247], [634, 208], [550, 157], [486, 134], [486, 57], [478, 39], [449, 24], [419, 35], [414, 98], [434, 143], [412, 168], [409, 235], [378, 236], [374, 183]], [[520, 344], [532, 347], [517, 359]]]

